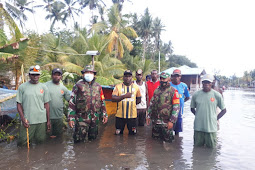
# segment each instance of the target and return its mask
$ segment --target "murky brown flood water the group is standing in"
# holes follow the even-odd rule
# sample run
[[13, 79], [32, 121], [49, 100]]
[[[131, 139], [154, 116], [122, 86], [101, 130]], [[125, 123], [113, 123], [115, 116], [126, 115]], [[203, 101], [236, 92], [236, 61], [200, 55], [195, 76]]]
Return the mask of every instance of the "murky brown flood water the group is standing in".
[[44, 145], [0, 144], [0, 169], [254, 169], [255, 92], [225, 91], [227, 113], [220, 119], [215, 149], [193, 147], [194, 115], [185, 103], [184, 132], [173, 143], [151, 138], [151, 126], [136, 136], [114, 135], [114, 118], [98, 139], [74, 144], [71, 133]]

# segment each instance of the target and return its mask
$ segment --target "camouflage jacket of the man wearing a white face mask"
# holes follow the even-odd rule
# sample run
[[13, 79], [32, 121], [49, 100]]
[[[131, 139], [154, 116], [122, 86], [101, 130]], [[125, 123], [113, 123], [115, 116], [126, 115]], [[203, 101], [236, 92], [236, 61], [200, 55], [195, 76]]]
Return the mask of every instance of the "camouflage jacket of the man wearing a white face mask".
[[95, 80], [92, 81], [91, 85], [85, 80], [80, 80], [72, 90], [68, 118], [74, 121], [75, 117], [88, 113], [102, 113], [104, 117], [108, 117], [101, 85]]

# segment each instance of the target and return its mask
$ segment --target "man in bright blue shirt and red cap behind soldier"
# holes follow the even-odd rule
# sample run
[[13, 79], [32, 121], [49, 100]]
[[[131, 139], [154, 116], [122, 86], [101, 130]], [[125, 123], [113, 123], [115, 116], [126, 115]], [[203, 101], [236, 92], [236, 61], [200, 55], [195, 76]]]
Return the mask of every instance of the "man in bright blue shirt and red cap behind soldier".
[[190, 94], [188, 90], [188, 86], [181, 82], [181, 70], [175, 69], [171, 75], [171, 86], [176, 88], [179, 93], [180, 98], [180, 112], [178, 115], [178, 120], [175, 124], [174, 132], [175, 135], [179, 135], [179, 132], [182, 132], [182, 115], [183, 115], [183, 108], [184, 108], [184, 102], [188, 101], [190, 99]]

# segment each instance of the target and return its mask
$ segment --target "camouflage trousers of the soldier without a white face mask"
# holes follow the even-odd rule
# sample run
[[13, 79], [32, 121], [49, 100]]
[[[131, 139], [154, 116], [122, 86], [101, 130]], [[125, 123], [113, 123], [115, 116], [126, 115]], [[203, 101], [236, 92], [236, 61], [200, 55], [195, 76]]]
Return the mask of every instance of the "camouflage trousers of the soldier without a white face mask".
[[152, 137], [171, 143], [174, 140], [173, 129], [167, 129], [167, 124], [153, 124]]

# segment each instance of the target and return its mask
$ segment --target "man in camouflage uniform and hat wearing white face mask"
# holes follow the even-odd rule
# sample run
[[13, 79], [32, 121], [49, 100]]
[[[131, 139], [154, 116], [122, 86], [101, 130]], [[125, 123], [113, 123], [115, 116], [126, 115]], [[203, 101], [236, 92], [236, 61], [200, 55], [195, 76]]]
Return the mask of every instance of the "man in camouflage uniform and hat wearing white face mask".
[[74, 142], [96, 139], [98, 134], [99, 115], [103, 114], [103, 123], [107, 123], [104, 94], [102, 87], [95, 82], [94, 68], [86, 66], [82, 71], [83, 79], [73, 87], [69, 101], [69, 126], [74, 130]]

